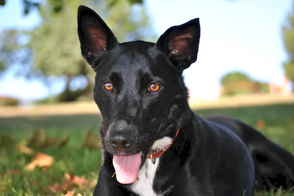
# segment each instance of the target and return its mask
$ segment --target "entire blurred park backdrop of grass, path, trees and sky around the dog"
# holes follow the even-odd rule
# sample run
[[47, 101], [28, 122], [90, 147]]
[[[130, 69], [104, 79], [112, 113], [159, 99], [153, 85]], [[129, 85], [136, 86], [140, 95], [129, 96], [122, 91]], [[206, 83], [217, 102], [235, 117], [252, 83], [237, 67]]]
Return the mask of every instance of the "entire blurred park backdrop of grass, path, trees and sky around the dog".
[[156, 42], [200, 18], [198, 59], [183, 73], [192, 109], [237, 117], [294, 152], [293, 0], [0, 0], [0, 195], [93, 191], [101, 116], [81, 4], [119, 42]]

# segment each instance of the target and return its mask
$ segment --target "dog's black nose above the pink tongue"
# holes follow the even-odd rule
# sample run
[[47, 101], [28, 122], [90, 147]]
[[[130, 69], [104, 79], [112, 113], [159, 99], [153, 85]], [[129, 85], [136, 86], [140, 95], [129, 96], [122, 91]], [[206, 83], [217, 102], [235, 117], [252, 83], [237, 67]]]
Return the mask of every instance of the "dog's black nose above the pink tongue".
[[109, 143], [115, 149], [119, 149], [124, 151], [128, 149], [133, 143], [132, 134], [131, 133], [115, 133], [110, 132], [108, 135]]

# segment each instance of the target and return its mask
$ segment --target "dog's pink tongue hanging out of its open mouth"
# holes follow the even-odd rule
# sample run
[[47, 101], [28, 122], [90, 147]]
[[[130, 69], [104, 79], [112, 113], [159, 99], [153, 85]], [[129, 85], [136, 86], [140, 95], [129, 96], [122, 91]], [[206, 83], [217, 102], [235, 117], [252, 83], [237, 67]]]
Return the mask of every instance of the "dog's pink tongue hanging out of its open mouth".
[[131, 184], [138, 178], [141, 165], [141, 152], [133, 155], [113, 155], [116, 180], [121, 184]]

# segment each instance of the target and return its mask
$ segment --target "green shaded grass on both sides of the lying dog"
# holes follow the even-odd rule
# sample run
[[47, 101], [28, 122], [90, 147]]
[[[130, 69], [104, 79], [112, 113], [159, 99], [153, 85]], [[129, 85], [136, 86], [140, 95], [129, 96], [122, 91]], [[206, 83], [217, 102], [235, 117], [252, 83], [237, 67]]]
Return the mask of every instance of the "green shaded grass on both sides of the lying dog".
[[[197, 110], [199, 115], [225, 114], [236, 117], [255, 126], [263, 119], [265, 126], [261, 131], [274, 142], [294, 152], [294, 104], [268, 105], [246, 108]], [[70, 134], [69, 143], [63, 148], [36, 149], [53, 156], [56, 162], [46, 171], [36, 168], [26, 171], [25, 165], [32, 157], [21, 154], [13, 142], [0, 149], [0, 196], [6, 195], [63, 195], [52, 193], [49, 185], [64, 183], [64, 173], [85, 175], [97, 181], [101, 153], [99, 149], [81, 147], [82, 139], [89, 128], [98, 132], [100, 115], [67, 115], [0, 118], [0, 134], [10, 134], [19, 144], [25, 144], [32, 131], [43, 127], [50, 136], [60, 138]], [[98, 124], [97, 124], [98, 123]], [[14, 141], [14, 140], [11, 140]], [[12, 147], [9, 147], [12, 146]], [[82, 189], [74, 186], [81, 195], [91, 195], [93, 188]], [[294, 196], [294, 192], [258, 192], [256, 196]]]

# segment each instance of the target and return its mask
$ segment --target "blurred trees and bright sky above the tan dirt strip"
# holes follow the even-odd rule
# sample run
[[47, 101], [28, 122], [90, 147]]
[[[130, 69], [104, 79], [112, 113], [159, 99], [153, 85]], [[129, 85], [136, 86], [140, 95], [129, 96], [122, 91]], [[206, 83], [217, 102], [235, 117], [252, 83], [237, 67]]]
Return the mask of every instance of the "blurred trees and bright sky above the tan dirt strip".
[[[120, 42], [156, 42], [169, 27], [200, 18], [199, 57], [184, 71], [191, 101], [293, 90], [292, 0], [2, 0], [2, 4], [1, 105], [92, 100], [94, 72], [81, 57], [76, 30], [80, 4], [97, 11]], [[9, 100], [12, 103], [6, 103]]]

